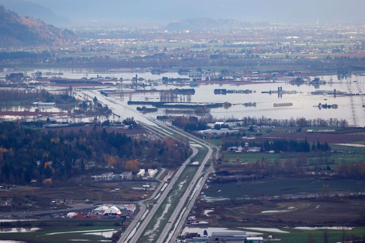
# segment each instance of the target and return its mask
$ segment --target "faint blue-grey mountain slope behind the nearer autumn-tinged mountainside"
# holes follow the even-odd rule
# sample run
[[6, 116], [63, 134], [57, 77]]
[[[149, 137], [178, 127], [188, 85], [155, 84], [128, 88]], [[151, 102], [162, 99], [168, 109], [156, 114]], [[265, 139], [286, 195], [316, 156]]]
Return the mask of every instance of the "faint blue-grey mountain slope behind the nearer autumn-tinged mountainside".
[[39, 18], [46, 23], [55, 26], [65, 27], [72, 24], [69, 19], [59, 16], [49, 8], [33, 2], [24, 0], [0, 0], [0, 4], [4, 5], [5, 8], [16, 12], [20, 16]]

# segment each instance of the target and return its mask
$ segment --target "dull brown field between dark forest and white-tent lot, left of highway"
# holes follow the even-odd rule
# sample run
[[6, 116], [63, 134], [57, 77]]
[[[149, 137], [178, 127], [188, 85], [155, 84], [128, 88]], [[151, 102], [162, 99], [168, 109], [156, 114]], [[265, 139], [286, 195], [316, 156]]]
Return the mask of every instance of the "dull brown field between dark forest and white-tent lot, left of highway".
[[[2, 190], [1, 202], [5, 204], [6, 198], [16, 200], [16, 208], [12, 210], [8, 207], [2, 207], [5, 212], [27, 209], [54, 209], [56, 206], [65, 207], [63, 205], [52, 205], [51, 200], [72, 200], [84, 202], [84, 200], [96, 201], [136, 201], [144, 194], [142, 188], [143, 182], [111, 182], [111, 183], [80, 183], [77, 186], [17, 186], [9, 190]], [[151, 183], [154, 188], [156, 183]], [[117, 190], [116, 190], [117, 188]], [[119, 188], [119, 189], [118, 189]], [[15, 198], [15, 199], [14, 199]], [[9, 211], [10, 210], [10, 211]]]

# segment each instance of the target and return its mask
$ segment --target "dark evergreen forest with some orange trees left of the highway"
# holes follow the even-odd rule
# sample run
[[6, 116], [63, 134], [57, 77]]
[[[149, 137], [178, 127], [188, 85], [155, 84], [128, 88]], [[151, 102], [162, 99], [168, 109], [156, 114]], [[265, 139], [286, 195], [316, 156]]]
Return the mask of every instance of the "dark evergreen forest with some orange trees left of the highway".
[[62, 182], [93, 169], [99, 173], [105, 168], [176, 167], [189, 154], [187, 144], [171, 138], [135, 139], [105, 129], [63, 132], [0, 123], [0, 182], [5, 183]]

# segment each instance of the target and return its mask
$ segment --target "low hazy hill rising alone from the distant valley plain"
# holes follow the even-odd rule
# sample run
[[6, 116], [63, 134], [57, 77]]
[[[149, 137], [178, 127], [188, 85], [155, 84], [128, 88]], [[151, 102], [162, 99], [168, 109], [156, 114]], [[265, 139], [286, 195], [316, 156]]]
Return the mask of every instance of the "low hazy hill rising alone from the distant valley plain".
[[[265, 24], [260, 24], [265, 25]], [[169, 23], [165, 29], [169, 31], [206, 31], [233, 30], [253, 27], [253, 24], [235, 19], [213, 19], [207, 17], [187, 18]]]

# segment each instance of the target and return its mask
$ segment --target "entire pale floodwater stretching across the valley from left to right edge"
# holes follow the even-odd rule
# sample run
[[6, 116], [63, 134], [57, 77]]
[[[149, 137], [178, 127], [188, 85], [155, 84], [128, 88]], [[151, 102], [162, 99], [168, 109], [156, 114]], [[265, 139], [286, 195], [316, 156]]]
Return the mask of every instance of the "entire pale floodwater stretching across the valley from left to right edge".
[[[27, 74], [30, 75], [38, 70], [27, 70]], [[162, 77], [181, 77], [186, 78], [188, 76], [180, 76], [178, 73], [164, 73], [160, 75], [153, 75], [149, 72], [144, 72], [144, 70], [114, 70], [112, 72], [102, 71], [102, 70], [89, 70], [89, 69], [49, 69], [49, 70], [39, 70], [42, 73], [63, 73], [60, 75], [65, 78], [82, 78], [82, 77], [97, 77], [97, 75], [102, 77], [115, 77], [123, 80], [130, 80], [138, 74], [138, 77], [145, 79], [147, 84], [151, 84], [148, 80], [159, 81], [159, 84], [153, 84], [152, 86], [147, 86], [145, 90], [168, 90], [168, 89], [195, 89], [194, 95], [177, 95], [174, 99], [166, 98], [160, 93], [132, 93], [124, 94], [122, 96], [112, 96], [117, 102], [124, 106], [127, 106], [128, 101], [171, 101], [171, 102], [230, 102], [231, 107], [224, 108], [211, 108], [210, 114], [217, 119], [227, 119], [235, 118], [242, 119], [244, 116], [250, 117], [268, 117], [271, 119], [290, 119], [304, 117], [307, 119], [314, 118], [337, 118], [346, 119], [350, 124], [357, 124], [358, 126], [365, 126], [365, 97], [363, 96], [336, 96], [333, 95], [312, 95], [311, 92], [316, 90], [325, 91], [336, 91], [357, 93], [361, 94], [365, 92], [365, 76], [351, 76], [350, 78], [338, 80], [337, 76], [323, 76], [319, 77], [321, 80], [325, 80], [326, 84], [321, 84], [319, 86], [313, 86], [308, 84], [303, 84], [300, 86], [291, 85], [286, 82], [267, 82], [258, 84], [252, 82], [246, 85], [236, 85], [236, 84], [202, 84], [197, 87], [190, 87], [187, 84], [184, 86], [177, 86], [173, 84], [162, 84]], [[14, 71], [13, 71], [14, 72]], [[23, 72], [23, 70], [17, 70], [16, 72]], [[0, 79], [5, 76], [7, 72], [0, 74]], [[9, 72], [8, 72], [9, 73]], [[45, 75], [44, 75], [45, 76]], [[47, 75], [51, 76], [51, 75]], [[57, 75], [58, 76], [58, 75]], [[314, 77], [311, 77], [314, 79]], [[128, 83], [129, 81], [123, 81], [123, 83]], [[262, 94], [263, 91], [277, 91], [278, 87], [282, 87], [283, 91], [296, 91], [295, 94], [283, 94], [281, 97], [277, 94]], [[47, 89], [52, 89], [52, 86], [48, 86]], [[105, 86], [102, 89], [106, 90], [117, 90], [117, 87]], [[139, 88], [142, 89], [142, 88]], [[227, 90], [251, 90], [250, 94], [227, 94], [227, 95], [214, 95], [214, 89], [227, 89]], [[123, 92], [132, 91], [127, 88], [122, 88]], [[242, 105], [243, 103], [255, 102], [256, 106], [246, 107]], [[274, 103], [293, 103], [292, 106], [287, 107], [274, 107]], [[337, 104], [337, 109], [319, 109], [318, 104]], [[128, 105], [131, 109], [136, 110], [137, 106], [142, 105]], [[152, 107], [151, 105], [145, 105], [146, 107]], [[174, 110], [174, 109], [172, 109]], [[175, 109], [176, 110], [176, 109]], [[171, 111], [171, 109], [170, 109]], [[125, 117], [131, 117], [135, 113], [131, 113], [128, 109], [125, 109]], [[146, 116], [154, 117], [166, 114], [166, 108], [159, 108], [157, 112], [147, 113]], [[171, 114], [174, 115], [174, 114]], [[182, 115], [182, 114], [180, 114]], [[111, 120], [120, 120], [117, 117], [109, 118]]]

